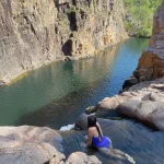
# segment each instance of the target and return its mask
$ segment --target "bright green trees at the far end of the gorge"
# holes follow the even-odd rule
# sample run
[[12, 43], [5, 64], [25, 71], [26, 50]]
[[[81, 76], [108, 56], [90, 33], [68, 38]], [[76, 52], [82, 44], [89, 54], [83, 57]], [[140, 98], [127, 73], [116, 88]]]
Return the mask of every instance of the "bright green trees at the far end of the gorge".
[[163, 0], [124, 0], [126, 9], [125, 27], [132, 36], [152, 35], [153, 15]]

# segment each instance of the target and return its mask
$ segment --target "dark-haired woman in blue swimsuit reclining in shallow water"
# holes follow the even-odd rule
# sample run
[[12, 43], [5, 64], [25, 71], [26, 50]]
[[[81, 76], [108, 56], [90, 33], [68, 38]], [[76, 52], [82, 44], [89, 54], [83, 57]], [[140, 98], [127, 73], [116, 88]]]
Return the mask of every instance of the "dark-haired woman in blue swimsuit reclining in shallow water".
[[119, 150], [113, 149], [112, 141], [103, 136], [102, 128], [96, 121], [95, 115], [87, 117], [87, 145], [97, 148], [99, 152], [109, 155], [113, 160], [134, 164], [131, 156]]

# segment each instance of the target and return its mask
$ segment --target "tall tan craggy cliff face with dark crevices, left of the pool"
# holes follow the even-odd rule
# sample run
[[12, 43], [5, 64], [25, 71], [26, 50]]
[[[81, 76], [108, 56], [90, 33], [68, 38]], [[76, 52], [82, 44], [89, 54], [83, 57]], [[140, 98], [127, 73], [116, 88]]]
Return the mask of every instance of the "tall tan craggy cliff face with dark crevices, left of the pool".
[[77, 59], [127, 37], [122, 0], [0, 2], [0, 84], [45, 63]]

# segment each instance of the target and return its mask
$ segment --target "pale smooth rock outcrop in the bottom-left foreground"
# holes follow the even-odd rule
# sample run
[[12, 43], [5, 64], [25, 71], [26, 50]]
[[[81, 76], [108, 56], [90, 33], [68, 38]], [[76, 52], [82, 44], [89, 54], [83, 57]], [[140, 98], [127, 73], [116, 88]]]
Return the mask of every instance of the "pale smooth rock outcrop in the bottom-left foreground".
[[[74, 152], [66, 160], [62, 138], [46, 127], [0, 127], [0, 164], [80, 164], [102, 162], [94, 155]], [[66, 161], [66, 162], [65, 162]]]

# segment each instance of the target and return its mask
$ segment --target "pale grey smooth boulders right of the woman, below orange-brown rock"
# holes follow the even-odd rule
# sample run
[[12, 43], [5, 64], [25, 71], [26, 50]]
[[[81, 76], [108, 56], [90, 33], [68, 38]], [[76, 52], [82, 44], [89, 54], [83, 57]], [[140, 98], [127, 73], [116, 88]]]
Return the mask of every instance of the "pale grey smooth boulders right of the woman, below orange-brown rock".
[[164, 131], [164, 78], [131, 86], [114, 97], [106, 97], [97, 104], [97, 112], [117, 110], [157, 130]]

